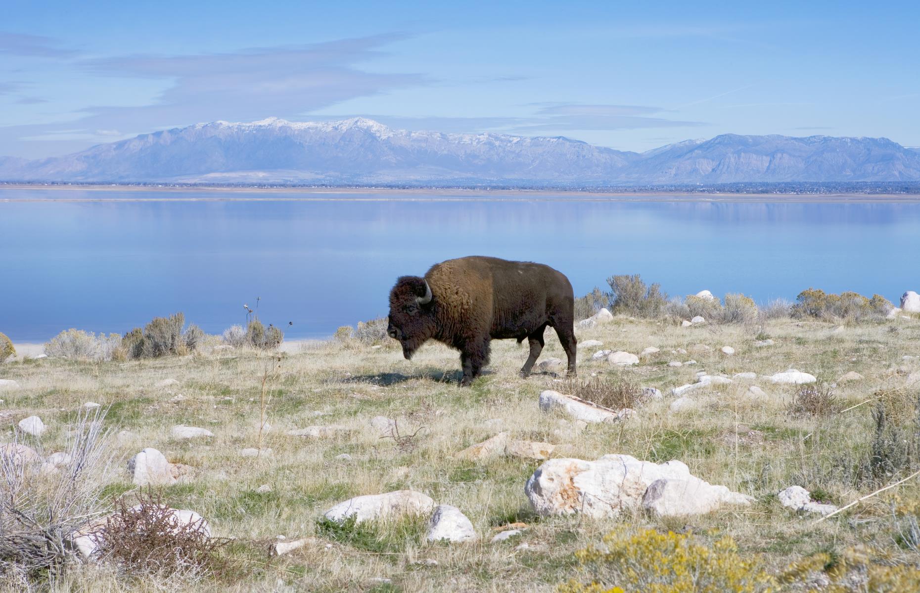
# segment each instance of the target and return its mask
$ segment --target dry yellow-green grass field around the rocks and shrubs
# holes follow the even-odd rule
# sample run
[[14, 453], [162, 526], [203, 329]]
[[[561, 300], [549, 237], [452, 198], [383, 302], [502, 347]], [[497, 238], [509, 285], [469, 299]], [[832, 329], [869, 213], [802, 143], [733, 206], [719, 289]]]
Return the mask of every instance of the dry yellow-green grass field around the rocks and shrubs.
[[[612, 529], [644, 527], [689, 526], [704, 540], [728, 534], [742, 555], [761, 557], [774, 573], [813, 553], [838, 557], [860, 545], [885, 563], [920, 562], [910, 538], [905, 540], [902, 520], [920, 507], [915, 480], [819, 523], [782, 507], [776, 497], [789, 485], [801, 485], [813, 497], [844, 505], [918, 468], [914, 400], [920, 383], [907, 383], [910, 373], [920, 370], [920, 319], [859, 325], [777, 319], [765, 325], [682, 327], [618, 316], [579, 330], [578, 337], [635, 354], [660, 348], [636, 366], [615, 368], [590, 360], [599, 348], [580, 348], [579, 376], [624, 377], [661, 389], [664, 398], [641, 405], [627, 421], [579, 430], [562, 416], [539, 410], [538, 394], [564, 383], [550, 374], [519, 378], [527, 351], [513, 341], [493, 342], [488, 371], [470, 388], [457, 386], [457, 354], [434, 344], [411, 361], [402, 358], [395, 343], [372, 348], [353, 342], [281, 355], [204, 348], [186, 357], [127, 362], [29, 359], [0, 366], [0, 378], [21, 386], [0, 393], [5, 400], [0, 441], [12, 440], [17, 421], [34, 414], [49, 430], [41, 439], [22, 442], [44, 454], [64, 450], [76, 411], [87, 401], [98, 402], [108, 407], [105, 422], [118, 455], [106, 496], [135, 488], [125, 463], [144, 447], [154, 447], [170, 462], [194, 468], [177, 485], [162, 487], [167, 503], [201, 513], [214, 535], [234, 538], [221, 550], [226, 568], [215, 576], [132, 578], [84, 566], [59, 577], [53, 585], [59, 590], [551, 591], [569, 578], [584, 578], [577, 550]], [[766, 337], [775, 344], [754, 346]], [[735, 353], [723, 354], [723, 346]], [[541, 360], [553, 356], [565, 358], [555, 334], [547, 332]], [[697, 364], [667, 364], [688, 359]], [[793, 405], [796, 386], [775, 385], [765, 377], [789, 368], [809, 372], [822, 384], [837, 383], [848, 371], [864, 378], [838, 383], [832, 405], [812, 415], [807, 405]], [[693, 409], [670, 412], [670, 389], [695, 382], [701, 370], [729, 377], [752, 371], [758, 377], [697, 390], [690, 394]], [[155, 386], [166, 379], [177, 383]], [[245, 458], [239, 451], [257, 447], [260, 439], [263, 379], [270, 428], [261, 440], [271, 451]], [[750, 393], [752, 384], [765, 395]], [[880, 403], [891, 426], [877, 427], [873, 411]], [[373, 428], [374, 416], [397, 420], [397, 438]], [[171, 428], [179, 424], [207, 428], [214, 436], [173, 439]], [[347, 430], [316, 439], [286, 434], [314, 425]], [[642, 513], [607, 521], [536, 517], [523, 485], [540, 462], [455, 458], [457, 451], [500, 430], [517, 439], [554, 443], [554, 457], [593, 460], [628, 453], [654, 462], [681, 460], [704, 480], [752, 495], [756, 502], [688, 519]], [[340, 459], [342, 453], [351, 460]], [[883, 458], [881, 464], [872, 461], [873, 455]], [[418, 490], [437, 503], [459, 507], [479, 541], [426, 543], [427, 518], [351, 529], [317, 521], [328, 507], [351, 496], [397, 489]], [[502, 526], [516, 522], [527, 525], [520, 537], [490, 542]], [[293, 553], [270, 557], [270, 542], [279, 536], [314, 539]]]

